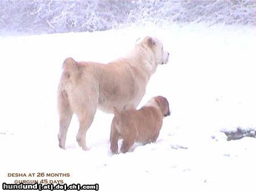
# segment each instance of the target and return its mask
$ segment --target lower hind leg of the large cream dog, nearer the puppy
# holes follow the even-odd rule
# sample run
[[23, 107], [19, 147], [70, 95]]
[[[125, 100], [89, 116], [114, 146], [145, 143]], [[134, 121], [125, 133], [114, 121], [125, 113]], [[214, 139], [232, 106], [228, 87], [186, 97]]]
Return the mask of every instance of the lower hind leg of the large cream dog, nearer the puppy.
[[[88, 106], [92, 107], [92, 106]], [[90, 125], [93, 122], [94, 115], [96, 112], [96, 107], [88, 108], [82, 114], [78, 115], [79, 116], [79, 132], [76, 135], [76, 141], [79, 144], [80, 147], [82, 147], [83, 150], [88, 150], [88, 147], [86, 146], [86, 132]]]

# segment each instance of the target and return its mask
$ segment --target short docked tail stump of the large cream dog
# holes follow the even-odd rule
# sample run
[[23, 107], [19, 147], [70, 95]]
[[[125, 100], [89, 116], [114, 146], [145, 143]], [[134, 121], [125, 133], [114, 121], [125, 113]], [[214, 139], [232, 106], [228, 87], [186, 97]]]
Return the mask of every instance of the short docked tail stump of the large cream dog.
[[69, 57], [63, 62], [63, 71], [69, 76], [77, 76], [81, 72], [81, 66], [73, 58]]

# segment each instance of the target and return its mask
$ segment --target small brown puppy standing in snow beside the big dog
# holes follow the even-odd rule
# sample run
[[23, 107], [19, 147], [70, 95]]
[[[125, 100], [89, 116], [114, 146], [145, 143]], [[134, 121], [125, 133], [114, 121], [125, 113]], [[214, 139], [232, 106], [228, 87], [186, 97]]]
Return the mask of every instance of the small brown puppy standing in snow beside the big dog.
[[139, 110], [118, 111], [114, 108], [110, 132], [110, 149], [118, 153], [119, 136], [123, 139], [121, 152], [129, 151], [134, 142], [156, 141], [164, 116], [170, 115], [169, 103], [162, 96], [153, 97]]

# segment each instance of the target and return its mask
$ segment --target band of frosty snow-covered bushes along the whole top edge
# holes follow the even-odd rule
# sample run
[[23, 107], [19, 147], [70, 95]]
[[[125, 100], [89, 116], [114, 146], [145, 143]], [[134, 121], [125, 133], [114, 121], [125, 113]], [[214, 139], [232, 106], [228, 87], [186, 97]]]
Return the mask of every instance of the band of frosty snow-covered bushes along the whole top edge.
[[0, 33], [98, 31], [130, 24], [255, 24], [255, 0], [2, 0]]

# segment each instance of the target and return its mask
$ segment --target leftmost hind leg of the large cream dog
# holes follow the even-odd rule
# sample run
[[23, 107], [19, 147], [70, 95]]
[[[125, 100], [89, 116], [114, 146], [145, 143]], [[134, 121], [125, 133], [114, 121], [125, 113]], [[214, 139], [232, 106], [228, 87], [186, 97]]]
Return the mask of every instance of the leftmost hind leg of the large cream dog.
[[71, 107], [69, 106], [68, 96], [64, 92], [59, 93], [58, 109], [60, 116], [60, 130], [58, 133], [59, 147], [64, 149], [68, 127], [73, 115]]

